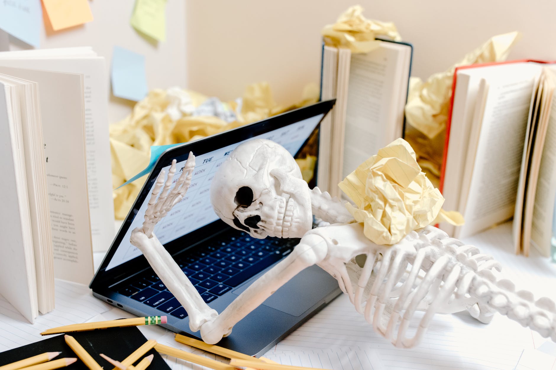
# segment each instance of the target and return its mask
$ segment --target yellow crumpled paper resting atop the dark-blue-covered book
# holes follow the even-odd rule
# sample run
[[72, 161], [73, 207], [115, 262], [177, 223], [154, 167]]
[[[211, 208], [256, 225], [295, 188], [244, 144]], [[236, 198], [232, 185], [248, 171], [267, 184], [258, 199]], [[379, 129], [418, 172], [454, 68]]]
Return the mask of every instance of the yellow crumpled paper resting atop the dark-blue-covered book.
[[348, 8], [336, 23], [328, 24], [321, 33], [327, 46], [349, 48], [352, 53], [368, 53], [378, 48], [380, 41], [375, 40], [376, 36], [401, 41], [394, 23], [366, 19], [359, 5]]

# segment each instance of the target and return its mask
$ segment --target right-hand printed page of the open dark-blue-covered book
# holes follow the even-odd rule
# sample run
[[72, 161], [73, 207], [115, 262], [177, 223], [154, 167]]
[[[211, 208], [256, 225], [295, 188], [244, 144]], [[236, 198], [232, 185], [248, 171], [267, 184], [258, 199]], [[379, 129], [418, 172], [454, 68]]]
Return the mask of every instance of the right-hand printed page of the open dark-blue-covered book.
[[399, 90], [401, 57], [405, 53], [399, 48], [386, 46], [351, 56], [342, 178], [403, 134], [394, 132], [403, 126], [404, 107], [398, 107], [399, 94], [406, 93]]

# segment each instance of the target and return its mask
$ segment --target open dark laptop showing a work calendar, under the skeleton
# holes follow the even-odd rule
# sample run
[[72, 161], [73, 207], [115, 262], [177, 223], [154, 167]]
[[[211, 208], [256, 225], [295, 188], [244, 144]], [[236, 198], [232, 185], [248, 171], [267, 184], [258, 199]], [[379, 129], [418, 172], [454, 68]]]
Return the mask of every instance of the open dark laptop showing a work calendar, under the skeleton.
[[[256, 239], [222, 222], [210, 204], [211, 179], [227, 155], [252, 138], [275, 141], [295, 156], [333, 105], [334, 101], [316, 103], [164, 152], [93, 278], [93, 294], [137, 316], [166, 315], [163, 326], [200, 338], [190, 331], [185, 309], [130, 244], [131, 231], [143, 222], [156, 177], [162, 169], [168, 173], [172, 159], [180, 168], [190, 151], [195, 154], [196, 167], [185, 198], [154, 231], [205, 302], [222, 312], [300, 239]], [[219, 345], [260, 356], [339, 293], [329, 274], [317, 266], [307, 268], [237, 323]]]

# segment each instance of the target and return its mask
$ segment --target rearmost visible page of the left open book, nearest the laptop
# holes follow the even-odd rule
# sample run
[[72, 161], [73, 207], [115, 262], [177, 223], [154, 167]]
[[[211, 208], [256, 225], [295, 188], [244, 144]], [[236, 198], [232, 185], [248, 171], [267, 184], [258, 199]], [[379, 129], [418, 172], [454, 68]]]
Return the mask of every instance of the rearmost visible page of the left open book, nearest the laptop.
[[[88, 48], [76, 49], [77, 51], [88, 50]], [[76, 54], [75, 58], [69, 59], [66, 55], [58, 59], [51, 57], [51, 53], [67, 54], [68, 51], [65, 49], [53, 49], [49, 52], [22, 51], [21, 55], [27, 58], [20, 59], [9, 57], [10, 53], [0, 53], [0, 66], [83, 74], [91, 233], [93, 248], [96, 251], [106, 251], [112, 243], [115, 229], [105, 60], [100, 57], [82, 58], [81, 54]], [[32, 59], [37, 57], [38, 59]]]

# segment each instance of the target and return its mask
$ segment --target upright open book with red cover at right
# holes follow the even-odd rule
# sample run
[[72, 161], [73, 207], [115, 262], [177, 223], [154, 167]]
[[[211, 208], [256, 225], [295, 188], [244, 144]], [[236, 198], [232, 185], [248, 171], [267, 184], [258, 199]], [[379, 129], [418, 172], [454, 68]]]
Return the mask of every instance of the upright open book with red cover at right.
[[[531, 226], [544, 155], [549, 66], [518, 61], [456, 69], [440, 190], [443, 207], [461, 212], [465, 224], [441, 224], [449, 234], [463, 238], [514, 216], [517, 251], [527, 246], [530, 238], [522, 243], [521, 232]], [[552, 224], [544, 229], [550, 233]]]

